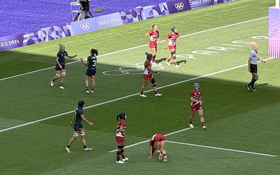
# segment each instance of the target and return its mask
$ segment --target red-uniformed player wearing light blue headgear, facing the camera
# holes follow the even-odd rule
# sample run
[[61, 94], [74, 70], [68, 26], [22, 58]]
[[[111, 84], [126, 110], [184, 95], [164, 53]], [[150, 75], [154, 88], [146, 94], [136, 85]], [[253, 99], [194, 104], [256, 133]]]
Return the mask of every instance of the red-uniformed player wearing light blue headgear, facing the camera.
[[206, 126], [204, 125], [204, 119], [203, 119], [203, 109], [202, 109], [202, 101], [201, 101], [201, 90], [199, 88], [198, 83], [194, 83], [194, 89], [190, 92], [190, 109], [191, 109], [191, 114], [190, 114], [190, 123], [189, 126], [191, 128], [194, 128], [192, 121], [193, 117], [195, 115], [195, 111], [198, 112], [198, 115], [200, 117], [200, 122], [202, 125], [202, 129], [205, 130]]

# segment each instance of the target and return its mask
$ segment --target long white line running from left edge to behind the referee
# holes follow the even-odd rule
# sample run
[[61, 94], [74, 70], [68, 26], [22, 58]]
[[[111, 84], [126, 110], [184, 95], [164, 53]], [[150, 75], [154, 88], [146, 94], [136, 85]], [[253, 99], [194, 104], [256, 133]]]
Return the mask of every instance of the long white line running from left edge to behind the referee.
[[[274, 57], [270, 57], [270, 58], [263, 59], [263, 60], [268, 60], [268, 59], [272, 59], [272, 58], [274, 58]], [[260, 62], [260, 61], [258, 61], [258, 62]], [[192, 78], [192, 79], [187, 79], [187, 80], [180, 81], [180, 82], [177, 82], [177, 83], [168, 84], [168, 85], [159, 87], [159, 88], [157, 88], [157, 89], [166, 88], [166, 87], [173, 86], [173, 85], [180, 84], [180, 83], [185, 83], [185, 82], [188, 82], [188, 81], [191, 81], [191, 80], [194, 80], [194, 79], [199, 79], [199, 78], [203, 78], [203, 77], [206, 77], [206, 76], [215, 75], [215, 74], [218, 74], [218, 73], [222, 73], [222, 72], [225, 72], [225, 71], [230, 71], [230, 70], [233, 70], [233, 69], [236, 69], [236, 68], [239, 68], [239, 67], [244, 67], [244, 66], [247, 66], [247, 65], [248, 65], [248, 64], [243, 64], [243, 65], [236, 66], [236, 67], [232, 67], [232, 68], [225, 69], [225, 70], [222, 70], [222, 71], [218, 71], [218, 72], [214, 72], [214, 73], [210, 73], [210, 74], [198, 76], [198, 77], [195, 77], [195, 78]], [[146, 92], [150, 92], [150, 91], [153, 91], [153, 89], [148, 90], [148, 91], [145, 91], [145, 93], [146, 93]], [[136, 95], [139, 95], [139, 94], [140, 94], [140, 93], [138, 92], [138, 93], [135, 93], [135, 94], [132, 94], [132, 95], [128, 95], [128, 96], [124, 96], [124, 97], [120, 97], [120, 98], [117, 98], [117, 99], [114, 99], [114, 100], [106, 101], [106, 102], [99, 103], [99, 104], [94, 104], [94, 105], [92, 105], [92, 106], [85, 107], [84, 109], [93, 108], [93, 107], [95, 107], [95, 106], [100, 106], [100, 105], [102, 105], [102, 104], [107, 104], [107, 103], [110, 103], [110, 102], [114, 102], [114, 101], [126, 99], [126, 98], [128, 98], [128, 97], [136, 96]], [[43, 119], [36, 120], [36, 121], [32, 121], [32, 122], [29, 122], [29, 123], [20, 124], [20, 125], [13, 126], [13, 127], [10, 127], [10, 128], [2, 129], [2, 130], [0, 130], [0, 132], [8, 131], [8, 130], [11, 130], [11, 129], [14, 129], [14, 128], [19, 128], [19, 127], [26, 126], [26, 125], [29, 125], [29, 124], [38, 123], [38, 122], [40, 122], [40, 121], [48, 120], [48, 119], [55, 118], [55, 117], [58, 117], [58, 116], [62, 116], [62, 115], [65, 115], [65, 114], [70, 114], [70, 113], [72, 113], [72, 112], [75, 112], [75, 111], [73, 110], [73, 111], [69, 111], [69, 112], [64, 112], [64, 113], [62, 113], [62, 114], [58, 114], [58, 115], [55, 115], [55, 116], [50, 116], [50, 117], [43, 118]]]

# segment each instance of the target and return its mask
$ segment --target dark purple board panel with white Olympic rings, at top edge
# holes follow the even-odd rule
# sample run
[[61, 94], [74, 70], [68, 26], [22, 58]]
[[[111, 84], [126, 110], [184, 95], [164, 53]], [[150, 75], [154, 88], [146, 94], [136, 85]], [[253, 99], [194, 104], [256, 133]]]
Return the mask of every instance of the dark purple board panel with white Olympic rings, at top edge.
[[188, 0], [171, 1], [166, 2], [166, 4], [168, 6], [169, 14], [191, 10], [190, 3]]

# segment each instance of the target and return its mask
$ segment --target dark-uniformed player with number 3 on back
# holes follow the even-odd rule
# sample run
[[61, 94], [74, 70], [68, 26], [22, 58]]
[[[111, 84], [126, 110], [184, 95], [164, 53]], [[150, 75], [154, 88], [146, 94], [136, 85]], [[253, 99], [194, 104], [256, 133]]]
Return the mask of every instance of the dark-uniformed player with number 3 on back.
[[[86, 70], [86, 94], [94, 93], [94, 79], [96, 73], [96, 56], [98, 55], [98, 51], [95, 49], [90, 50], [90, 56], [87, 57], [87, 61], [85, 62], [83, 58], [80, 60], [84, 63], [87, 68]], [[91, 77], [91, 90], [89, 91], [89, 83], [88, 79]]]

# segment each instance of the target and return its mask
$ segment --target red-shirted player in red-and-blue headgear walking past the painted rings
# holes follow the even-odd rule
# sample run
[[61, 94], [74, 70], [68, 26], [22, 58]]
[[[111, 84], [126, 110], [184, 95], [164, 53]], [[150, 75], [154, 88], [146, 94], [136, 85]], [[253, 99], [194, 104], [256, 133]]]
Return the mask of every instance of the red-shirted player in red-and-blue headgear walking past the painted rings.
[[142, 86], [141, 86], [141, 92], [140, 92], [140, 96], [141, 97], [146, 97], [144, 94], [143, 94], [143, 92], [144, 92], [144, 90], [145, 90], [145, 87], [146, 87], [146, 85], [148, 84], [148, 80], [150, 80], [150, 82], [153, 84], [153, 89], [154, 89], [154, 96], [156, 96], [156, 97], [158, 97], [158, 96], [161, 96], [162, 94], [159, 94], [158, 92], [157, 92], [157, 85], [156, 85], [156, 81], [154, 80], [154, 77], [153, 77], [153, 75], [152, 75], [152, 72], [154, 72], [154, 73], [156, 73], [156, 74], [160, 74], [158, 71], [154, 71], [154, 70], [152, 70], [152, 68], [151, 68], [151, 60], [152, 60], [152, 58], [153, 58], [153, 55], [152, 54], [148, 54], [147, 52], [146, 52], [146, 55], [147, 55], [147, 57], [146, 57], [146, 61], [145, 61], [145, 63], [144, 63], [144, 73], [143, 73], [143, 79], [144, 79], [144, 82], [143, 82], [143, 84], [142, 84]]

